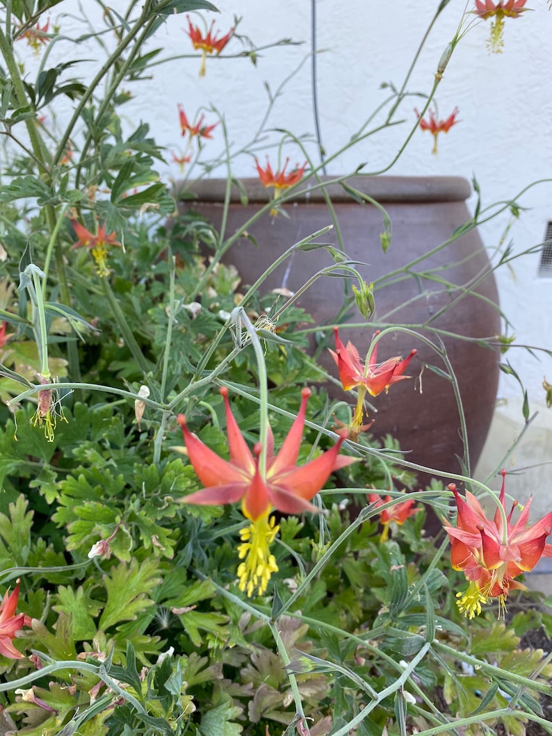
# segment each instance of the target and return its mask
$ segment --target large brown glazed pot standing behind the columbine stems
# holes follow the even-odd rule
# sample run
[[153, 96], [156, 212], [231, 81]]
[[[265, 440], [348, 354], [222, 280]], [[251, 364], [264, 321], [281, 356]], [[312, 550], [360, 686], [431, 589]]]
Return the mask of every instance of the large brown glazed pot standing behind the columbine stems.
[[[240, 201], [240, 192], [233, 191], [227, 216], [225, 238], [244, 225], [268, 199], [267, 191], [257, 180], [241, 180], [247, 191], [247, 204]], [[475, 231], [462, 236], [434, 255], [426, 256], [434, 247], [447, 241], [456, 228], [470, 218], [465, 200], [470, 196], [470, 185], [460, 177], [353, 177], [350, 185], [361, 189], [380, 202], [392, 221], [392, 241], [384, 254], [380, 233], [383, 231], [381, 212], [373, 205], [355, 202], [339, 185], [329, 185], [333, 208], [342, 233], [344, 250], [349, 258], [367, 266], [359, 271], [365, 280], [377, 282], [375, 291], [375, 315], [378, 324], [404, 323], [435, 341], [434, 330], [458, 333], [467, 338], [486, 338], [500, 333], [498, 294], [495, 279], [490, 272], [489, 260]], [[195, 202], [183, 203], [206, 216], [215, 227], [222, 219], [225, 182], [205, 180], [194, 185]], [[247, 238], [240, 238], [225, 256], [227, 263], [234, 263], [244, 283], [253, 283], [271, 264], [277, 255], [300, 241], [332, 219], [319, 190], [283, 206], [288, 217], [264, 214], [247, 227], [258, 247]], [[336, 244], [335, 230], [321, 238]], [[462, 289], [447, 289], [428, 276], [400, 277], [378, 283], [381, 277], [400, 269], [406, 263], [420, 258], [411, 272], [420, 274], [431, 270], [432, 277], [447, 280], [459, 287], [477, 284], [479, 295], [468, 294], [444, 311], [462, 294]], [[316, 271], [332, 263], [325, 250], [297, 252], [293, 261], [287, 261], [266, 280], [263, 289], [268, 291], [283, 285], [297, 291]], [[300, 298], [299, 304], [310, 312], [319, 325], [333, 325], [342, 306], [344, 284], [336, 278], [322, 278]], [[483, 297], [483, 298], [481, 298]], [[400, 305], [404, 305], [400, 307]], [[436, 316], [439, 315], [439, 316]], [[351, 322], [362, 322], [354, 305], [350, 311]], [[420, 328], [420, 325], [422, 326]], [[365, 355], [375, 331], [371, 324], [359, 328], [343, 328], [343, 342], [350, 339], [359, 353]], [[498, 384], [497, 353], [477, 342], [452, 339], [443, 333], [442, 339], [459, 381], [467, 430], [470, 439], [470, 464], [478, 459], [489, 429], [495, 406]], [[330, 344], [333, 336], [330, 331]], [[420, 375], [423, 364], [444, 369], [440, 358], [421, 340], [394, 333], [383, 339], [378, 347], [378, 359], [392, 355], [407, 355], [412, 347], [418, 350], [408, 373]], [[337, 375], [328, 351], [325, 366]], [[421, 389], [420, 390], [420, 386]], [[339, 387], [328, 386], [333, 397], [347, 399]], [[351, 403], [353, 397], [350, 397]], [[412, 378], [396, 383], [389, 394], [380, 394], [373, 400], [378, 409], [372, 431], [383, 436], [390, 432], [400, 441], [406, 458], [416, 463], [459, 472], [459, 457], [463, 456], [459, 435], [459, 411], [453, 386], [442, 375], [425, 369], [422, 380]]]

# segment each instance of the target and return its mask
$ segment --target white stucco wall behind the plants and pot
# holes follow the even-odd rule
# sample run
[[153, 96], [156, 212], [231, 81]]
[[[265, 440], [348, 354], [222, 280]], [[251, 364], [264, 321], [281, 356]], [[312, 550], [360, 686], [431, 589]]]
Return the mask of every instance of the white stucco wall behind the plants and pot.
[[[121, 10], [126, 0], [112, 0], [110, 6]], [[250, 140], [252, 132], [266, 110], [264, 83], [275, 91], [280, 82], [300, 65], [310, 50], [310, 2], [279, 0], [219, 0], [221, 13], [216, 29], [221, 32], [233, 24], [233, 14], [243, 16], [238, 32], [252, 38], [257, 46], [280, 38], [304, 40], [302, 46], [282, 46], [262, 52], [258, 65], [247, 59], [209, 59], [207, 75], [198, 77], [199, 57], [180, 59], [158, 66], [155, 79], [132, 86], [135, 99], [121, 111], [132, 121], [149, 122], [160, 144], [177, 151], [182, 144], [178, 125], [177, 103], [182, 103], [189, 117], [200, 107], [214, 105], [224, 113], [232, 146]], [[317, 0], [318, 47], [325, 49], [318, 59], [319, 109], [322, 140], [332, 154], [343, 146], [388, 91], [381, 82], [401, 84], [420, 39], [438, 6], [437, 0], [350, 0], [347, 3]], [[431, 136], [417, 130], [406, 152], [394, 165], [394, 174], [459, 174], [478, 179], [484, 205], [511, 199], [534, 180], [551, 176], [552, 159], [552, 72], [549, 39], [552, 12], [545, 0], [529, 0], [532, 10], [520, 18], [507, 18], [503, 54], [489, 54], [486, 39], [489, 21], [474, 24], [461, 40], [439, 86], [437, 100], [441, 117], [453, 107], [460, 110], [460, 123], [439, 138], [439, 153], [431, 155]], [[86, 13], [97, 13], [89, 0]], [[470, 0], [467, 7], [473, 7]], [[74, 15], [63, 15], [68, 9]], [[68, 31], [77, 26], [76, 1], [68, 0], [54, 8], [57, 20]], [[428, 42], [420, 55], [408, 89], [428, 93], [434, 81], [436, 66], [445, 46], [453, 38], [461, 22], [464, 0], [450, 0], [439, 16]], [[473, 16], [470, 16], [475, 21]], [[93, 21], [96, 22], [96, 21]], [[161, 28], [150, 48], [163, 46], [160, 57], [191, 54], [191, 43], [185, 32], [184, 15], [175, 15]], [[60, 49], [62, 44], [59, 45]], [[225, 49], [232, 54], [241, 49], [235, 38]], [[96, 46], [79, 47], [82, 58], [96, 58]], [[93, 56], [89, 54], [94, 54]], [[33, 60], [30, 60], [33, 63]], [[310, 62], [292, 77], [277, 100], [269, 126], [292, 130], [296, 135], [312, 135], [314, 122], [311, 106]], [[402, 106], [404, 123], [370, 138], [328, 166], [331, 174], [354, 170], [367, 162], [364, 171], [379, 171], [394, 158], [409, 127], [414, 122], [414, 107], [420, 99], [407, 99]], [[206, 121], [215, 121], [206, 111]], [[258, 146], [263, 158], [268, 136]], [[208, 148], [207, 148], [208, 146]], [[208, 141], [205, 152], [222, 152], [220, 127]], [[297, 146], [286, 149], [291, 163], [302, 160]], [[314, 146], [310, 147], [314, 155]], [[273, 153], [274, 155], [274, 153]], [[235, 161], [238, 176], [255, 175], [251, 155]], [[178, 177], [177, 165], [163, 171], [165, 177]], [[552, 186], [539, 185], [518, 200], [523, 208], [519, 220], [512, 224], [507, 241], [521, 251], [542, 241], [546, 224], [552, 221]], [[505, 213], [481, 227], [486, 246], [494, 249], [511, 222]], [[498, 275], [503, 311], [514, 325], [517, 341], [552, 348], [552, 279], [538, 277], [539, 255], [527, 256], [514, 263], [513, 269], [501, 269]], [[552, 360], [537, 358], [524, 350], [510, 350], [506, 356], [528, 386], [531, 407], [546, 414], [542, 377], [552, 382]], [[474, 366], [474, 381], [477, 367]], [[508, 399], [518, 397], [519, 386], [512, 378], [501, 378], [500, 394]], [[514, 402], [512, 401], [512, 404]], [[513, 411], [513, 409], [512, 409]], [[516, 409], [517, 411], [517, 409]], [[549, 411], [548, 414], [551, 414]], [[546, 420], [548, 421], [548, 420]], [[552, 422], [552, 420], [550, 420]]]

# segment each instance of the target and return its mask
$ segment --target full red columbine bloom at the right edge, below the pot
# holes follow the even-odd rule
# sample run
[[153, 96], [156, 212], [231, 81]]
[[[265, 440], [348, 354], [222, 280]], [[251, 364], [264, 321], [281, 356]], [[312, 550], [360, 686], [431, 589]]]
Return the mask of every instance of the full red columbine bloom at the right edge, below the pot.
[[[505, 470], [502, 477], [499, 501], [506, 510]], [[469, 618], [481, 613], [481, 604], [486, 604], [489, 598], [498, 598], [503, 609], [510, 590], [525, 590], [525, 586], [514, 578], [532, 570], [541, 557], [552, 557], [552, 545], [546, 543], [552, 531], [552, 512], [527, 527], [529, 499], [517, 522], [512, 524], [517, 506], [514, 501], [504, 528], [500, 509], [489, 520], [472, 493], [466, 491], [464, 501], [455, 484], [448, 487], [456, 498], [458, 509], [456, 527], [445, 520], [445, 531], [451, 542], [450, 559], [455, 570], [461, 570], [470, 582], [464, 593], [456, 594], [457, 605]]]

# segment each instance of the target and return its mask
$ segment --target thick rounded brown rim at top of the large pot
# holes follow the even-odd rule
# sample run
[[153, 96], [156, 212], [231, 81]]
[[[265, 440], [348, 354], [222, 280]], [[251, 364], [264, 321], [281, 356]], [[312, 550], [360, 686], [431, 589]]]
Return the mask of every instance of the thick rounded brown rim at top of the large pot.
[[[355, 202], [339, 183], [339, 177], [319, 177], [320, 186], [314, 177], [297, 186], [294, 202], [324, 202], [325, 194], [332, 202]], [[464, 177], [344, 177], [342, 181], [358, 189], [377, 202], [464, 202], [472, 194], [470, 183]], [[226, 179], [200, 179], [177, 186], [178, 199], [195, 199], [200, 202], [223, 202]], [[314, 187], [314, 188], [313, 188]], [[263, 187], [258, 178], [239, 180], [233, 183], [230, 202], [266, 203], [272, 199], [272, 188]]]

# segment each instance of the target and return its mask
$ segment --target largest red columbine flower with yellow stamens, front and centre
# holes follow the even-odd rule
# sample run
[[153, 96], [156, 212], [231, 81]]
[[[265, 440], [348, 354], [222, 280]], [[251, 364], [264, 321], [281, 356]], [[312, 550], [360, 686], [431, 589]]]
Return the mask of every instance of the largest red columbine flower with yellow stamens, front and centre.
[[302, 389], [301, 406], [291, 426], [288, 436], [274, 454], [274, 436], [268, 428], [266, 439], [266, 473], [261, 474], [258, 459], [261, 445], [257, 443], [253, 453], [242, 436], [228, 402], [228, 389], [220, 389], [224, 398], [228, 447], [230, 460], [223, 460], [207, 445], [204, 445], [186, 425], [185, 417], [178, 415], [178, 423], [183, 429], [188, 457], [199, 480], [205, 486], [200, 491], [185, 496], [185, 503], [203, 505], [236, 503], [241, 500], [241, 510], [252, 523], [241, 530], [242, 544], [238, 548], [240, 559], [245, 558], [238, 567], [239, 588], [252, 595], [255, 588], [259, 593], [266, 590], [272, 573], [277, 572], [275, 557], [269, 553], [269, 545], [277, 534], [272, 509], [283, 514], [300, 514], [316, 511], [309, 503], [328, 480], [333, 470], [350, 464], [353, 458], [339, 457], [340, 437], [327, 452], [310, 462], [297, 467], [305, 412], [310, 389]]

